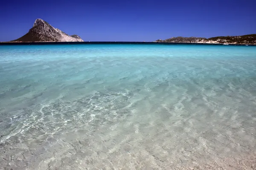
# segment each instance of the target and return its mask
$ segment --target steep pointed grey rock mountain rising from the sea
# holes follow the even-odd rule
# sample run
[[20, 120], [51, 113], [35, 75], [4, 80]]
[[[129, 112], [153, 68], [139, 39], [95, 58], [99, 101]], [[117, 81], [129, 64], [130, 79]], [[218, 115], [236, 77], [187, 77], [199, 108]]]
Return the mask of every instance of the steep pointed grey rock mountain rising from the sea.
[[42, 19], [35, 20], [34, 26], [29, 32], [17, 40], [11, 42], [83, 42], [78, 35], [71, 35], [52, 27]]

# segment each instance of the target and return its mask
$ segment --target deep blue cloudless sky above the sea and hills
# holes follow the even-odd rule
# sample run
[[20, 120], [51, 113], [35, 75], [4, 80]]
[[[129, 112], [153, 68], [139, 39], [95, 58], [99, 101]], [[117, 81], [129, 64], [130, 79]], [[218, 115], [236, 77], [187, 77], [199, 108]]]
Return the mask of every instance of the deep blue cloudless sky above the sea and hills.
[[1, 0], [0, 41], [37, 18], [84, 41], [256, 34], [256, 0]]

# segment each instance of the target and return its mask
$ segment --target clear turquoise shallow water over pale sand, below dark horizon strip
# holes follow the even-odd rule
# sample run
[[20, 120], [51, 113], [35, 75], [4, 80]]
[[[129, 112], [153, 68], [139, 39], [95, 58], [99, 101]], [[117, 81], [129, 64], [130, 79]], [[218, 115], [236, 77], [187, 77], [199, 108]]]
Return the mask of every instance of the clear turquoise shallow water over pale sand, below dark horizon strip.
[[256, 46], [2, 45], [0, 169], [253, 169]]

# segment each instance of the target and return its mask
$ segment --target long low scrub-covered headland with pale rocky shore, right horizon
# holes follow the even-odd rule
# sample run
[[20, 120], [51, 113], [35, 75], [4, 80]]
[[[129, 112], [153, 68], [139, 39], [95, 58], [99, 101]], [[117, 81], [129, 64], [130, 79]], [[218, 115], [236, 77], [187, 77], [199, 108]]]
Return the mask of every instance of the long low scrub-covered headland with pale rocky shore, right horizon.
[[208, 39], [197, 37], [173, 37], [166, 40], [156, 40], [155, 42], [256, 44], [256, 34], [248, 34], [242, 36], [212, 37]]

